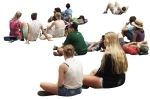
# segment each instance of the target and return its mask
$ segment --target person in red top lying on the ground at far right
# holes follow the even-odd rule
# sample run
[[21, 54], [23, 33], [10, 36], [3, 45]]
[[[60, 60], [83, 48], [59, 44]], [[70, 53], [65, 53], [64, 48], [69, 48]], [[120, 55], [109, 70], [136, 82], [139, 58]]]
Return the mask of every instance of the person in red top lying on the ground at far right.
[[148, 47], [147, 41], [126, 43], [121, 33], [118, 34], [118, 39], [125, 53], [131, 54], [131, 55], [138, 55], [138, 54], [147, 55], [148, 54], [149, 47]]

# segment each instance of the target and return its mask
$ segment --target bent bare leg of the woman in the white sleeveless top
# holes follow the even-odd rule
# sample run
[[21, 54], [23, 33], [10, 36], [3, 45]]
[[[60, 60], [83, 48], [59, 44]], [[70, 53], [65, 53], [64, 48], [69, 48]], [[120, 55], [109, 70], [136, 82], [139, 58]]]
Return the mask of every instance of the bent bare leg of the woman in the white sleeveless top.
[[46, 92], [58, 95], [58, 86], [57, 84], [42, 82], [40, 87], [45, 90]]

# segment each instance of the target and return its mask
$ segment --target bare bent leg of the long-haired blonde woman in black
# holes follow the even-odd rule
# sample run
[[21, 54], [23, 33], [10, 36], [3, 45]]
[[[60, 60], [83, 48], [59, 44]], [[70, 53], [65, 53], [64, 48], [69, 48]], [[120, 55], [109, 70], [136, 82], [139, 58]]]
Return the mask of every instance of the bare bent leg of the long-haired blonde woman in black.
[[102, 87], [102, 80], [100, 77], [97, 77], [97, 76], [85, 75], [83, 77], [83, 85], [89, 86], [92, 88], [101, 88]]

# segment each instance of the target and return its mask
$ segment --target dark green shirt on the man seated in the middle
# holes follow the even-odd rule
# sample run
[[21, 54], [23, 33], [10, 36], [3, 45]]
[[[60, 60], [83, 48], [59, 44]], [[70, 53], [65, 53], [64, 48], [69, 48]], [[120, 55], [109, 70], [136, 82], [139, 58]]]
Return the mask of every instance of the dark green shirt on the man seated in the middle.
[[69, 33], [64, 42], [64, 45], [67, 44], [72, 44], [78, 55], [84, 55], [87, 53], [87, 45], [80, 32], [74, 31], [72, 33]]

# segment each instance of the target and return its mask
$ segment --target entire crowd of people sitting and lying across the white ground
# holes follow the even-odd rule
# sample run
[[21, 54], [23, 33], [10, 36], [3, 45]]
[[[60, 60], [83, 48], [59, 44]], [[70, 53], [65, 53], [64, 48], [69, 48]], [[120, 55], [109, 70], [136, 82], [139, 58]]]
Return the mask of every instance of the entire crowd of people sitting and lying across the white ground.
[[[118, 7], [117, 10], [120, 10], [120, 12], [115, 12], [111, 6], [109, 4], [104, 13], [107, 13], [108, 8], [110, 8], [113, 14], [122, 14], [122, 11], [127, 10], [127, 8]], [[115, 6], [118, 6], [117, 3]], [[70, 5], [67, 4], [66, 7], [66, 12], [72, 13]], [[31, 14], [32, 21], [29, 23], [21, 23], [19, 21], [21, 15], [21, 12], [16, 12], [10, 21], [10, 36], [12, 37], [15, 36], [20, 40], [25, 38], [26, 43], [29, 43], [29, 41], [36, 41], [40, 31], [42, 31], [47, 40], [51, 40], [52, 36], [62, 37], [66, 35], [63, 45], [61, 47], [55, 46], [53, 52], [55, 56], [64, 56], [65, 59], [65, 62], [59, 66], [58, 83], [42, 82], [40, 86], [44, 91], [40, 91], [39, 95], [57, 94], [60, 96], [73, 96], [80, 94], [82, 88], [113, 88], [121, 86], [125, 82], [125, 72], [128, 69], [125, 53], [132, 55], [148, 54], [149, 47], [147, 42], [144, 41], [143, 23], [134, 16], [129, 18], [129, 22], [123, 27], [122, 33], [107, 32], [100, 41], [87, 43], [82, 33], [78, 31], [78, 25], [82, 23], [79, 19], [83, 19], [83, 23], [87, 22], [84, 16], [72, 19], [72, 14], [67, 17], [63, 13], [64, 21], [61, 18], [61, 10], [56, 8], [54, 16], [48, 20], [53, 22], [44, 30], [43, 25], [37, 20], [37, 13]], [[67, 22], [67, 26], [65, 22]], [[55, 32], [52, 30], [53, 26], [55, 26]], [[51, 35], [49, 36], [47, 33]], [[125, 42], [124, 36], [130, 42]], [[74, 56], [85, 55], [88, 51], [93, 50], [104, 52], [101, 65], [98, 69], [93, 70], [90, 75], [83, 75], [82, 64], [74, 59]], [[119, 61], [118, 58], [120, 59]]]

